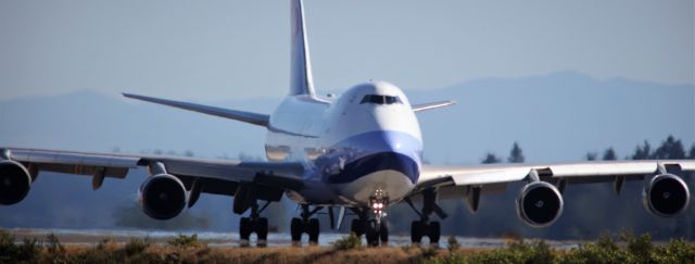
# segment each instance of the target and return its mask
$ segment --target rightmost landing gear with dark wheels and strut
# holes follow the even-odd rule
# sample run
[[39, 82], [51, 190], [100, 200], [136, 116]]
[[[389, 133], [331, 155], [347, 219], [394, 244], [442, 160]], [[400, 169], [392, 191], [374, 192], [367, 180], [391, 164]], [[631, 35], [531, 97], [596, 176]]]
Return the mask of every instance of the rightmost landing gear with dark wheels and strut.
[[430, 240], [430, 244], [439, 244], [441, 226], [439, 222], [430, 221], [430, 216], [432, 213], [437, 213], [437, 215], [443, 219], [446, 218], [447, 215], [437, 205], [437, 191], [428, 189], [422, 192], [421, 211], [415, 208], [409, 198], [406, 198], [405, 202], [420, 216], [419, 221], [414, 221], [410, 224], [410, 241], [419, 244], [422, 242], [422, 237], [427, 237]]

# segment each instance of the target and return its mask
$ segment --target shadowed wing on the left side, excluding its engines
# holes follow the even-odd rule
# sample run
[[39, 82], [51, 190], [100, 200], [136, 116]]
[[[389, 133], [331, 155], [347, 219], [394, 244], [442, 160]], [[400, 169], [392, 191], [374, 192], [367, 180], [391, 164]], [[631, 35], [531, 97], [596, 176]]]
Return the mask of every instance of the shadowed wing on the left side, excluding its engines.
[[[26, 167], [33, 179], [39, 172], [92, 176], [92, 188], [101, 187], [104, 177], [125, 178], [128, 171], [164, 165], [167, 174], [181, 180], [187, 189], [194, 181], [202, 183], [201, 192], [233, 196], [240, 184], [258, 186], [268, 198], [280, 197], [285, 190], [302, 188], [301, 163], [240, 162], [203, 160], [182, 156], [127, 155], [59, 150], [4, 148], [0, 162], [14, 161]], [[269, 199], [263, 199], [269, 200]]]

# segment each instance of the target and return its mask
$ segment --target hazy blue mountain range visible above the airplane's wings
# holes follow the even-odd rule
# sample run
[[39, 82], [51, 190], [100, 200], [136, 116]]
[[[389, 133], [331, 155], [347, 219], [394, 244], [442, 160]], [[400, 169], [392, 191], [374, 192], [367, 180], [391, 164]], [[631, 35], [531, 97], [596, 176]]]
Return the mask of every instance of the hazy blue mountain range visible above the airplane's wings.
[[[508, 154], [518, 141], [528, 162], [582, 159], [614, 147], [619, 156], [668, 135], [695, 140], [695, 88], [559, 72], [489, 78], [434, 90], [408, 90], [412, 102], [452, 99], [454, 106], [418, 114], [430, 162], [478, 163]], [[136, 92], [136, 91], [131, 91]], [[150, 95], [164, 97], [167, 95]], [[270, 113], [283, 95], [202, 102]], [[177, 98], [186, 100], [185, 98]], [[88, 151], [162, 150], [207, 158], [263, 156], [265, 130], [125, 98], [80, 91], [0, 101], [0, 144]], [[686, 146], [690, 147], [690, 146]]]

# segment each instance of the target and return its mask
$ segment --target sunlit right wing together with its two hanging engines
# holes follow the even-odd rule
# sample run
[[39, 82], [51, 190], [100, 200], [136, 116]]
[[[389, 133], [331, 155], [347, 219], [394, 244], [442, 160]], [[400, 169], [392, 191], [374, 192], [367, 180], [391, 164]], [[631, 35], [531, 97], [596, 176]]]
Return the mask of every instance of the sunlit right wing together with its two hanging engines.
[[[690, 200], [688, 187], [681, 179], [695, 172], [695, 160], [605, 161], [557, 164], [484, 164], [471, 166], [431, 166], [420, 169], [414, 191], [404, 200], [414, 208], [413, 199], [422, 199], [429, 208], [425, 214], [446, 213], [437, 199], [462, 199], [471, 213], [478, 211], [481, 196], [498, 193], [510, 183], [526, 183], [517, 197], [517, 214], [525, 223], [551, 225], [563, 212], [563, 192], [568, 185], [612, 181], [620, 193], [627, 180], [650, 177], [644, 201], [655, 215], [680, 214]], [[427, 201], [427, 202], [425, 202]], [[415, 209], [415, 208], [414, 208]], [[425, 210], [429, 211], [425, 211]], [[417, 211], [416, 211], [417, 212]]]

